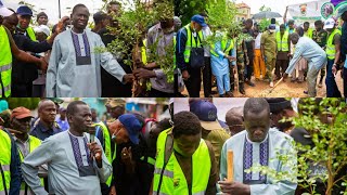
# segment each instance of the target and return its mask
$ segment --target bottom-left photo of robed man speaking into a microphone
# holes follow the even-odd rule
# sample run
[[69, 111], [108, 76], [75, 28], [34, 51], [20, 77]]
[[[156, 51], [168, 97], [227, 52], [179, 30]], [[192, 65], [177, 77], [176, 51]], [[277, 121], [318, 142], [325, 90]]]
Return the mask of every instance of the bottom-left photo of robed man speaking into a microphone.
[[0, 100], [0, 194], [153, 194], [171, 106], [164, 98]]

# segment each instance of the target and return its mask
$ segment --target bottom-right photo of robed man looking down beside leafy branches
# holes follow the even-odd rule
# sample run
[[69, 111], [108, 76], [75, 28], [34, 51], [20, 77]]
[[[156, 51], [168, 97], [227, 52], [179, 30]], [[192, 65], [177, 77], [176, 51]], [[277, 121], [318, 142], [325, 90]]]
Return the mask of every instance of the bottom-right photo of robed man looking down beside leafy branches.
[[175, 99], [174, 113], [174, 194], [347, 192], [345, 99]]

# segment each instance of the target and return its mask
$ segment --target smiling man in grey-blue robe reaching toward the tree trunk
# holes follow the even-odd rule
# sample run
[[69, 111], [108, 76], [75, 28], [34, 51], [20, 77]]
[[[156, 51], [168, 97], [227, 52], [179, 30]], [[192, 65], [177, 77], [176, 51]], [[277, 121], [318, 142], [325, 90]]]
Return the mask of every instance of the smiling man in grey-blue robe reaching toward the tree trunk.
[[133, 79], [110, 52], [100, 51], [105, 46], [98, 34], [86, 29], [88, 18], [86, 5], [75, 5], [74, 27], [55, 38], [47, 73], [47, 96], [101, 96], [100, 66], [123, 83]]

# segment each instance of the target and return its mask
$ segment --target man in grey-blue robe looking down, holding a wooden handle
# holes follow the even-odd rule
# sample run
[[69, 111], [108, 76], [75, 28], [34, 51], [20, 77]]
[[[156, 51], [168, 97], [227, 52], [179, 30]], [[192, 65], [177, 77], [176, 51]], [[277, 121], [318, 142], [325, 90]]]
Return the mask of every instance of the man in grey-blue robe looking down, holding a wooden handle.
[[[220, 158], [220, 190], [227, 194], [294, 195], [297, 180], [296, 155], [291, 150], [293, 139], [270, 128], [270, 107], [265, 99], [248, 99], [244, 105], [244, 131], [230, 138], [223, 145]], [[233, 151], [233, 181], [224, 181], [228, 174], [227, 153]], [[279, 159], [278, 153], [291, 161]], [[245, 170], [255, 165], [269, 167], [290, 176], [275, 181], [268, 174]]]

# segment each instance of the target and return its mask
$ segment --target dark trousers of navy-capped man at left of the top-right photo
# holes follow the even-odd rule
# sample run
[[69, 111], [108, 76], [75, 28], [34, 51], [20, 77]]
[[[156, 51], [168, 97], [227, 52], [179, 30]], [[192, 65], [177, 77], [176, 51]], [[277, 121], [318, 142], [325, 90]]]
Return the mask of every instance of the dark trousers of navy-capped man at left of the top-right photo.
[[189, 96], [200, 98], [200, 90], [202, 84], [202, 69], [193, 69], [191, 67], [188, 67], [187, 70], [191, 76], [188, 80], [184, 80], [184, 84], [188, 90]]

